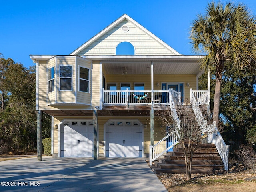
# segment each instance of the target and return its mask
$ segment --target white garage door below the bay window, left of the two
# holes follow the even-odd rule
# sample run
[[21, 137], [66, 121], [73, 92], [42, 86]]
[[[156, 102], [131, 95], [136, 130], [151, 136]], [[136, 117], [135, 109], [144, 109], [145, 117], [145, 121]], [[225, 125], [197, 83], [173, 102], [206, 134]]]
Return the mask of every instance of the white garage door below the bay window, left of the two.
[[92, 121], [67, 121], [60, 132], [61, 157], [93, 156], [93, 123]]

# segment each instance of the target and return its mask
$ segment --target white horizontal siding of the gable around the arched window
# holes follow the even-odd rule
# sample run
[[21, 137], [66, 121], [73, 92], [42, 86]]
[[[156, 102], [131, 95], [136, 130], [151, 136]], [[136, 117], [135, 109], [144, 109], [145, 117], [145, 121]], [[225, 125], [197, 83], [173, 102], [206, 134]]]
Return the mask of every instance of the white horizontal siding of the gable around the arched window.
[[[128, 32], [123, 32], [122, 26], [129, 26]], [[175, 55], [140, 28], [124, 20], [106, 34], [88, 45], [79, 55], [115, 55], [116, 46], [120, 42], [130, 42], [136, 50], [136, 55]]]

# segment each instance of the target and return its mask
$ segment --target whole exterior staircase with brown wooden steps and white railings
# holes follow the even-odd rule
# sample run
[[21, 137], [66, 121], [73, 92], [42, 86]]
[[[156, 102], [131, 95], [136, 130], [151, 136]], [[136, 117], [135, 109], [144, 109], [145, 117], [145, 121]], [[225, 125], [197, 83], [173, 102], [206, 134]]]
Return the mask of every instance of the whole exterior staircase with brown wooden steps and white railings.
[[[172, 119], [179, 129], [181, 124], [175, 105], [180, 105], [180, 102], [173, 99], [174, 90], [169, 92]], [[185, 110], [186, 118], [196, 118], [202, 133], [208, 134], [206, 140], [198, 144], [193, 154], [192, 173], [220, 174], [228, 171], [229, 146], [225, 144], [220, 135], [216, 122], [209, 124], [208, 117], [202, 114], [202, 111], [207, 110], [210, 106], [209, 95], [208, 90], [190, 89], [190, 105], [181, 106]], [[171, 148], [173, 151], [168, 152]], [[178, 144], [178, 136], [175, 130], [156, 144], [150, 145], [149, 155], [149, 164], [156, 174], [186, 173], [184, 151]]]

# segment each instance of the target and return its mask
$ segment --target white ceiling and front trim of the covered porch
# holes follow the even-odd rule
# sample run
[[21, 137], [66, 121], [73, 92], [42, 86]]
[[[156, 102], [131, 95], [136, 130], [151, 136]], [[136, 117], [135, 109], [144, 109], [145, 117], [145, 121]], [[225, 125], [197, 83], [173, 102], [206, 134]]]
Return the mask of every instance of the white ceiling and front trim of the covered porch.
[[[90, 58], [90, 56], [86, 57]], [[201, 74], [200, 56], [130, 56], [107, 57], [101, 59], [106, 74], [122, 74], [126, 68], [127, 74], [151, 74], [151, 62], [154, 64], [154, 74]], [[95, 58], [90, 58], [95, 60]]]

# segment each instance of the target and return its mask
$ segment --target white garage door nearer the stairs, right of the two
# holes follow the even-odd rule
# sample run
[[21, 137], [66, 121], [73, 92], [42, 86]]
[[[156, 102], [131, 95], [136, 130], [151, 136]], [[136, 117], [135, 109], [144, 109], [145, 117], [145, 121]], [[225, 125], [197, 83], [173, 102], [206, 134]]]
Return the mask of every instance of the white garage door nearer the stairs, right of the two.
[[142, 157], [143, 127], [138, 121], [109, 121], [106, 157]]

